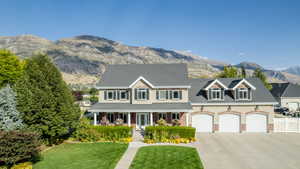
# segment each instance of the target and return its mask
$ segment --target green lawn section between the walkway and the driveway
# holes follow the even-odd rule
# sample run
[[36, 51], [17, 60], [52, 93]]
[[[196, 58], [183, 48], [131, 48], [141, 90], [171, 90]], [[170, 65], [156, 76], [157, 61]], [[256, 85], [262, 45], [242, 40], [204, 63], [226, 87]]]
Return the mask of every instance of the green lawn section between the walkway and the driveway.
[[148, 146], [139, 149], [130, 169], [203, 169], [203, 166], [195, 148]]

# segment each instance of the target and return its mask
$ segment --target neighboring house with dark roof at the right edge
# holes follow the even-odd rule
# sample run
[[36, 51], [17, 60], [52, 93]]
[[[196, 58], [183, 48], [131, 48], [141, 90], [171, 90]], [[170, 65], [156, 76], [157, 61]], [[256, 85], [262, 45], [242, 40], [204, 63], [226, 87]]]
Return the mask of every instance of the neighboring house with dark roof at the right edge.
[[292, 83], [272, 83], [271, 93], [281, 107], [295, 112], [300, 109], [300, 85]]

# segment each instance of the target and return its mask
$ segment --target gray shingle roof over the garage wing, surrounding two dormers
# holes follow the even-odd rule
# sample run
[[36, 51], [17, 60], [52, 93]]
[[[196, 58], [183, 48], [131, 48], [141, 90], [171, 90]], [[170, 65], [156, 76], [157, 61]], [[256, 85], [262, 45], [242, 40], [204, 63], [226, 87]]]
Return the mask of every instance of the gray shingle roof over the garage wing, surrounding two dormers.
[[[228, 88], [235, 86], [242, 79], [238, 78], [220, 78], [218, 79], [221, 83]], [[190, 79], [191, 88], [189, 91], [190, 101], [192, 103], [253, 103], [253, 102], [264, 102], [264, 103], [274, 103], [276, 100], [272, 94], [265, 88], [263, 83], [257, 78], [247, 78], [246, 79], [250, 84], [256, 87], [256, 90], [253, 90], [252, 100], [251, 101], [235, 101], [230, 91], [225, 92], [224, 100], [222, 101], [209, 101], [206, 96], [206, 91], [203, 89], [207, 84], [211, 83], [212, 79]]]

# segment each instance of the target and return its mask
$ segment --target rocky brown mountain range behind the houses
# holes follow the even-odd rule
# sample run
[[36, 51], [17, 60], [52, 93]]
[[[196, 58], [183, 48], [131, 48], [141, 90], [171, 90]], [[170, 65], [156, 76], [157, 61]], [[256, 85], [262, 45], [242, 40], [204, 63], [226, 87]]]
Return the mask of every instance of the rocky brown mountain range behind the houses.
[[[185, 51], [129, 46], [109, 39], [81, 35], [50, 41], [34, 35], [0, 36], [0, 49], [8, 49], [21, 58], [45, 53], [61, 70], [69, 84], [95, 84], [108, 64], [186, 63], [190, 77], [213, 77], [228, 63], [211, 60]], [[300, 66], [283, 71], [268, 70], [256, 63], [242, 62], [251, 74], [262, 69], [268, 79], [300, 83]]]

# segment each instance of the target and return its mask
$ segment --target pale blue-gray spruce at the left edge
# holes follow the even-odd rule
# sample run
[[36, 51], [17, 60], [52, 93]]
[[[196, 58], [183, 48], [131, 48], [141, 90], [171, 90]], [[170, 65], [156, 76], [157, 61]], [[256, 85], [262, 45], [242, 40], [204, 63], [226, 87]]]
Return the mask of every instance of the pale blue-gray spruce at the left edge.
[[0, 90], [0, 130], [11, 131], [22, 127], [21, 114], [16, 108], [16, 95], [7, 85]]

